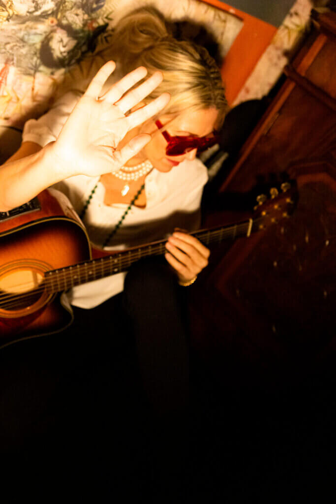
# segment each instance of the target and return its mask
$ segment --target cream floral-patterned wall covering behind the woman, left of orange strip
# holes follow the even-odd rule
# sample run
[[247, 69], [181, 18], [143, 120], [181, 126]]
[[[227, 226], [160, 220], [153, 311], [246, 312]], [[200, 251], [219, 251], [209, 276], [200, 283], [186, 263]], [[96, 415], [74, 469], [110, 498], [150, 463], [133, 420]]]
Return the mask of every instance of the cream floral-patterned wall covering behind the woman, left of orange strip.
[[0, 0], [0, 127], [20, 130], [44, 113], [64, 75], [108, 46], [121, 16], [149, 4], [174, 20], [208, 24], [222, 56], [241, 27], [234, 16], [197, 0]]

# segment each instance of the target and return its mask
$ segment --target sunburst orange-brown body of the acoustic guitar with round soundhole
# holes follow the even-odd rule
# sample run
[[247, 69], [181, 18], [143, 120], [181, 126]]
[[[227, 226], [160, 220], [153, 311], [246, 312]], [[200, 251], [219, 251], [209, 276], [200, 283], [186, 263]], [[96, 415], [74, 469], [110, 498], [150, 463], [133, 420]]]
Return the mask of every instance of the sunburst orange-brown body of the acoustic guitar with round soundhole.
[[47, 293], [43, 275], [91, 259], [87, 233], [67, 198], [46, 190], [38, 207], [0, 221], [0, 346], [69, 325], [70, 305]]

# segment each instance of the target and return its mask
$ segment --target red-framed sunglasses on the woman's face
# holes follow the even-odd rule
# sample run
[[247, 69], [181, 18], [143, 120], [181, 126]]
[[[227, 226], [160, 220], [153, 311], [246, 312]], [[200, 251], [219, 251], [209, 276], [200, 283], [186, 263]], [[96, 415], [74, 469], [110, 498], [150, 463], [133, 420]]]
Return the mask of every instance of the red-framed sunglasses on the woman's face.
[[[159, 120], [155, 121], [155, 124], [159, 130], [163, 128], [163, 125]], [[168, 156], [181, 156], [193, 149], [197, 149], [198, 154], [199, 152], [203, 152], [219, 142], [219, 135], [216, 132], [205, 137], [196, 137], [194, 135], [188, 135], [186, 137], [171, 137], [166, 130], [161, 133], [168, 142], [166, 147], [166, 154]]]

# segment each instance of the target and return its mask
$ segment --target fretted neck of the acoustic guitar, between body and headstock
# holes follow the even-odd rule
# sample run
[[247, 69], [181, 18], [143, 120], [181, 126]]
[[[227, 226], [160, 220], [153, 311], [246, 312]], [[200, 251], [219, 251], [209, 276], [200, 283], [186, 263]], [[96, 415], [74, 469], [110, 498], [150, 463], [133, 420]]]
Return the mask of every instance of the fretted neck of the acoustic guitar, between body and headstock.
[[[204, 245], [211, 246], [227, 239], [249, 236], [251, 232], [256, 230], [259, 230], [258, 219], [249, 219], [233, 226], [203, 229], [190, 234], [195, 236]], [[122, 250], [101, 259], [94, 259], [59, 270], [48, 271], [45, 273], [47, 292], [50, 294], [62, 292], [77, 285], [127, 271], [133, 263], [142, 258], [164, 255], [166, 252], [166, 241], [167, 239], [155, 241], [139, 247]]]

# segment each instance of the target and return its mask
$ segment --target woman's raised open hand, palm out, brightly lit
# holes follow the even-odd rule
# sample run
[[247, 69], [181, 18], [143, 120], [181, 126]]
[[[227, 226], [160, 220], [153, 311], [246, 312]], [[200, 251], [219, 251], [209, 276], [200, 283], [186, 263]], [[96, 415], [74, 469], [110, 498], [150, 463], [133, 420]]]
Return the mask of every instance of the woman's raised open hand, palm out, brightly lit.
[[170, 95], [163, 93], [148, 105], [126, 115], [162, 82], [163, 76], [156, 72], [129, 91], [147, 75], [147, 70], [139, 67], [100, 96], [114, 69], [114, 61], [108, 61], [98, 71], [52, 145], [59, 169], [64, 170], [63, 178], [77, 174], [98, 176], [118, 170], [140, 152], [151, 137], [138, 135], [118, 149], [121, 140], [128, 131], [160, 112], [170, 100]]

